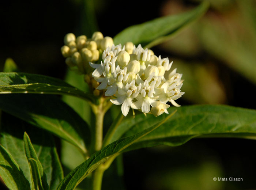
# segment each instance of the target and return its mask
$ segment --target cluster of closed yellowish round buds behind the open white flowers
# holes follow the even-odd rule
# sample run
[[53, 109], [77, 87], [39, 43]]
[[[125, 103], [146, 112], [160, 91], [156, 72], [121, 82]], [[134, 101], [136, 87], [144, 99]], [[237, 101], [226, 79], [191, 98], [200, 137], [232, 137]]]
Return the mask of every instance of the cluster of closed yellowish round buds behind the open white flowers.
[[79, 73], [88, 74], [91, 71], [89, 62], [98, 61], [103, 50], [113, 45], [113, 39], [104, 38], [101, 32], [95, 32], [91, 38], [69, 33], [64, 37], [64, 44], [61, 53], [66, 58], [66, 64]]

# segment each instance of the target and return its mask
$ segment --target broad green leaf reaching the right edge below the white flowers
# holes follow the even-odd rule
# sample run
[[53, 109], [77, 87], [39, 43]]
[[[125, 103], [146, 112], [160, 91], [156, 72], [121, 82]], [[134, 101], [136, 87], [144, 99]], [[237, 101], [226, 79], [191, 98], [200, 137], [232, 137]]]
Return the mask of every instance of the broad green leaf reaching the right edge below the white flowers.
[[[156, 145], [178, 146], [191, 138], [236, 137], [256, 139], [256, 110], [231, 106], [182, 106], [170, 107], [169, 112], [177, 113], [158, 129], [131, 145], [128, 150]], [[165, 118], [162, 114], [159, 119]], [[157, 119], [158, 119], [157, 118]], [[131, 136], [157, 120], [153, 115], [137, 115], [135, 119], [124, 120], [112, 138]]]

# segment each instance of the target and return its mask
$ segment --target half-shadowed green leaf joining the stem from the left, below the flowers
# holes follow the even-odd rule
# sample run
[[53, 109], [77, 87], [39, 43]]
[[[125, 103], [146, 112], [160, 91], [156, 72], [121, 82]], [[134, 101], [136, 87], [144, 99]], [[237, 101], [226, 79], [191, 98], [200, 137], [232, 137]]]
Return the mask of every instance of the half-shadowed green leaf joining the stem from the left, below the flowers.
[[0, 109], [39, 128], [48, 130], [87, 153], [90, 129], [67, 104], [53, 95], [1, 95]]

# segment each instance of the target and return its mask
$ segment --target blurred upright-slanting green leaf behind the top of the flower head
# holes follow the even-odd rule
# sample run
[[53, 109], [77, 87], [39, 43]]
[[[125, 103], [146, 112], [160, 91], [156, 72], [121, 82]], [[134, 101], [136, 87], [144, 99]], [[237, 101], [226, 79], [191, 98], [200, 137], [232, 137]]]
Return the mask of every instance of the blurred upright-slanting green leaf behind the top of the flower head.
[[139, 43], [142, 46], [152, 47], [163, 41], [166, 41], [181, 28], [200, 18], [208, 8], [208, 3], [203, 2], [192, 11], [179, 15], [171, 15], [163, 18], [157, 18], [142, 24], [134, 25], [121, 31], [114, 37], [114, 43], [131, 41], [135, 45]]

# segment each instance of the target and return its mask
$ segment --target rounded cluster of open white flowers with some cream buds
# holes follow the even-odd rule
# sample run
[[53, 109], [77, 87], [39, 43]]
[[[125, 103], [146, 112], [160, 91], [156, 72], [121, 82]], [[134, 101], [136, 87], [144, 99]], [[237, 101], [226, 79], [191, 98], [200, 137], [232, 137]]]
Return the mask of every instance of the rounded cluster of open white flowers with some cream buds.
[[127, 42], [124, 47], [121, 44], [107, 47], [102, 53], [102, 60], [101, 64], [89, 62], [95, 69], [92, 76], [100, 83], [97, 89], [106, 89], [106, 96], [115, 95], [117, 98], [110, 101], [122, 104], [124, 116], [130, 107], [158, 116], [168, 113], [168, 101], [180, 106], [175, 100], [184, 94], [180, 91], [182, 74], [174, 69], [167, 75], [166, 71], [172, 66], [168, 58], [162, 59], [152, 50]]

